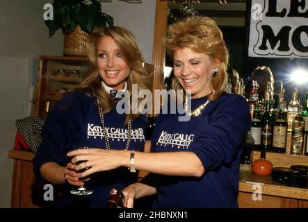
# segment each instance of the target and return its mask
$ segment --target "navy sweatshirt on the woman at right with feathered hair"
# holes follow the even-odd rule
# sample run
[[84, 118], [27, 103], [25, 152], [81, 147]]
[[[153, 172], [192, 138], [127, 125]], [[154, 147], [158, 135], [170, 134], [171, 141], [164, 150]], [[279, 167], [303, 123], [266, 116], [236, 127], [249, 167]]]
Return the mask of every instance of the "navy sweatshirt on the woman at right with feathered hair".
[[[206, 102], [192, 99], [192, 109]], [[149, 173], [144, 183], [156, 187], [156, 207], [238, 207], [239, 158], [250, 130], [250, 109], [243, 96], [224, 94], [202, 114], [178, 121], [183, 114], [160, 114], [152, 152], [191, 151], [205, 169], [200, 178]]]

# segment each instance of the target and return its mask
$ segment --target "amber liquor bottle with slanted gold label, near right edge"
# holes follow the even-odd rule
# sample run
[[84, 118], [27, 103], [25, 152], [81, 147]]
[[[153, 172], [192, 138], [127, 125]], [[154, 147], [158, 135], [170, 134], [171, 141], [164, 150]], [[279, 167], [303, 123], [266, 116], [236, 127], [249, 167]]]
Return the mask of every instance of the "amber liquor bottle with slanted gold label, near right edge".
[[293, 155], [302, 155], [304, 146], [304, 126], [305, 121], [300, 112], [298, 112], [292, 122], [291, 154]]

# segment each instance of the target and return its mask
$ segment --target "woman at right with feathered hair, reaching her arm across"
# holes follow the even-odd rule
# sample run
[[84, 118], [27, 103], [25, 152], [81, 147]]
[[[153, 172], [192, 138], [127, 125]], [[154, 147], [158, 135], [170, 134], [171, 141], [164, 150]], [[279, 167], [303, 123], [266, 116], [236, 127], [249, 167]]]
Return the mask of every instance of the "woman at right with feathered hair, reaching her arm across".
[[[88, 160], [92, 168], [81, 176], [117, 167], [148, 171], [123, 190], [127, 207], [151, 194], [156, 194], [153, 207], [238, 207], [239, 158], [250, 110], [243, 96], [223, 90], [228, 51], [222, 33], [208, 17], [187, 17], [168, 27], [165, 46], [174, 61], [173, 87], [187, 99], [184, 114], [157, 117], [152, 152], [91, 149], [68, 155], [74, 163]], [[190, 119], [179, 121], [181, 116]]]

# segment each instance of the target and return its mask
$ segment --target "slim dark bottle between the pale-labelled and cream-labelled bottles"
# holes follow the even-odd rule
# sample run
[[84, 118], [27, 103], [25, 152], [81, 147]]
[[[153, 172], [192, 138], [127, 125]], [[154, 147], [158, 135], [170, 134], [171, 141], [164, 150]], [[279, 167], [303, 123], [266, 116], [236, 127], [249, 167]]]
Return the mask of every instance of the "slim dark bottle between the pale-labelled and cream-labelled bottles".
[[262, 121], [262, 136], [261, 136], [261, 146], [266, 147], [266, 151], [269, 151], [272, 146], [273, 139], [273, 116], [270, 112], [270, 101], [266, 103], [266, 111], [264, 112], [264, 117]]

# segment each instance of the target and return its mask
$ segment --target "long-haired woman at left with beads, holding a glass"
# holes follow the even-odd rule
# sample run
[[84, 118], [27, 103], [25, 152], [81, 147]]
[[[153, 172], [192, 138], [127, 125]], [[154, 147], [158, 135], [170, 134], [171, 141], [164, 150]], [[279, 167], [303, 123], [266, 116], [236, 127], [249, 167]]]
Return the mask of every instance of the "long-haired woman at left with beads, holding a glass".
[[[137, 181], [136, 173], [125, 168], [93, 173], [85, 180], [67, 157], [69, 151], [83, 147], [143, 152], [146, 144], [147, 118], [138, 110], [133, 112], [129, 103], [133, 84], [146, 89], [149, 83], [135, 37], [127, 29], [113, 26], [92, 33], [86, 46], [90, 74], [51, 110], [33, 159], [36, 176], [54, 184], [65, 183], [58, 207], [105, 207], [112, 187], [124, 188]], [[123, 100], [129, 108], [120, 113]], [[72, 195], [89, 194], [83, 189], [70, 194], [74, 186], [85, 182], [93, 194]]]

